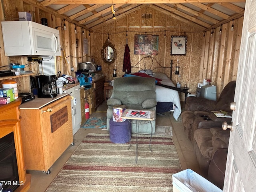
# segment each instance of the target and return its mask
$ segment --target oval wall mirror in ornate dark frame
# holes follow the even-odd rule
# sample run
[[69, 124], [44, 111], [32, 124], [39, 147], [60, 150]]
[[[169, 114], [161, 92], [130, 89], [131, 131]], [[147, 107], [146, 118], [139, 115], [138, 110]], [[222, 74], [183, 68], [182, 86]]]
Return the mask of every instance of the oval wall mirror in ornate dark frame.
[[112, 45], [108, 40], [106, 40], [105, 44], [101, 50], [102, 60], [107, 64], [112, 64], [116, 60], [116, 49], [114, 45]]

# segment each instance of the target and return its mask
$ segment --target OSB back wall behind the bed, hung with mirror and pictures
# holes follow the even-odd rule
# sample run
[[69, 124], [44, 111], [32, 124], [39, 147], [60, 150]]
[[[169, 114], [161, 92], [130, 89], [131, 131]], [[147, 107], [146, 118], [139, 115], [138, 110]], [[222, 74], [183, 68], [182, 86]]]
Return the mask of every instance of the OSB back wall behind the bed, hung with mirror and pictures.
[[[142, 14], [152, 14], [152, 18], [142, 18]], [[126, 36], [127, 31], [127, 36]], [[115, 21], [107, 26], [104, 26], [96, 30], [94, 33], [94, 55], [95, 60], [98, 62], [98, 59], [101, 58], [101, 48], [105, 40], [110, 37], [110, 42], [115, 45], [117, 58], [114, 64], [108, 65], [102, 62], [102, 68], [104, 75], [106, 75], [106, 80], [113, 80], [112, 77], [113, 69], [116, 68], [117, 77], [124, 75], [122, 72], [123, 58], [124, 58], [124, 48], [127, 43], [130, 48], [130, 58], [132, 66], [138, 67], [133, 68], [132, 72], [137, 72], [142, 69], [153, 69], [160, 67], [170, 67], [170, 61], [173, 60], [172, 68], [172, 81], [174, 84], [180, 82], [182, 86], [185, 84], [191, 86], [191, 92], [196, 91], [196, 86], [198, 83], [198, 71], [200, 69], [200, 53], [202, 47], [202, 32], [195, 32], [196, 29], [192, 28], [188, 24], [182, 23], [179, 20], [171, 18], [166, 14], [158, 12], [150, 7], [144, 7], [140, 10], [129, 14], [127, 17], [122, 18], [121, 20]], [[184, 33], [187, 32], [187, 33]], [[100, 36], [101, 34], [101, 36]], [[152, 56], [152, 59], [147, 58], [143, 60], [146, 55], [134, 55], [134, 36], [136, 34], [142, 35], [158, 35], [158, 55]], [[166, 38], [164, 38], [166, 34]], [[171, 56], [170, 55], [170, 41], [171, 36], [174, 35], [186, 35], [188, 36], [187, 44], [187, 54], [186, 56]], [[99, 38], [102, 38], [100, 41]], [[193, 48], [192, 48], [193, 47]], [[192, 55], [195, 54], [195, 55]], [[180, 75], [178, 77], [175, 75], [175, 66], [177, 66], [177, 60], [179, 59], [180, 66]], [[158, 64], [159, 63], [159, 64]], [[170, 68], [165, 69], [156, 69], [154, 72], [164, 72], [168, 77], [170, 77]], [[190, 79], [192, 77], [192, 79]], [[181, 94], [181, 99], [184, 100], [184, 94]]]

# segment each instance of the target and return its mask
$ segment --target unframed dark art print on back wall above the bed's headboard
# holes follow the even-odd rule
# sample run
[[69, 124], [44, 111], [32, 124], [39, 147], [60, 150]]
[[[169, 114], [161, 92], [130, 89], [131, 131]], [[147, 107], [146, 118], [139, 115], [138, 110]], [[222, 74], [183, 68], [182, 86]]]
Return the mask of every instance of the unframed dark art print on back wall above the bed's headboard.
[[135, 35], [134, 55], [157, 55], [158, 38], [158, 35]]

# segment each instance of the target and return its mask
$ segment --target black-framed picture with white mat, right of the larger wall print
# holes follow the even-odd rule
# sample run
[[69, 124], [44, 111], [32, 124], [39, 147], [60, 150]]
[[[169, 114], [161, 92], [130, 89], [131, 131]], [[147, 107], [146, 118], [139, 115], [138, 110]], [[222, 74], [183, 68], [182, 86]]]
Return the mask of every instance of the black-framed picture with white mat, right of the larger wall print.
[[171, 37], [171, 55], [186, 55], [187, 36]]

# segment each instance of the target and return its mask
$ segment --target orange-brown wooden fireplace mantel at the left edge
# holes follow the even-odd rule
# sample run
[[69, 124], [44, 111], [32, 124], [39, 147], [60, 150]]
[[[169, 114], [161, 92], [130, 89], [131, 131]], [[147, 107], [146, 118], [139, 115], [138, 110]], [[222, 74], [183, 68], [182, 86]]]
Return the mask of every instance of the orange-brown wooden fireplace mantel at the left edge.
[[30, 174], [26, 173], [24, 164], [23, 148], [20, 133], [20, 109], [21, 99], [0, 105], [0, 138], [13, 132], [18, 164], [20, 186], [15, 192], [26, 192], [30, 188]]

